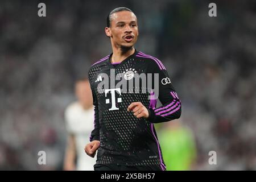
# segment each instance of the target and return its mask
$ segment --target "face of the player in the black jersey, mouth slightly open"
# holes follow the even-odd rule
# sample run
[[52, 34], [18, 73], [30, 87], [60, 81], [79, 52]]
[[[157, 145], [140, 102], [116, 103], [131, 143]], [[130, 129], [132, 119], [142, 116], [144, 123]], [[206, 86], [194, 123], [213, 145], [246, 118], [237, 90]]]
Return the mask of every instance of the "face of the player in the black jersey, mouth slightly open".
[[132, 47], [138, 37], [138, 23], [134, 13], [119, 11], [110, 18], [110, 27], [106, 27], [106, 35], [110, 36], [112, 43], [117, 47]]

